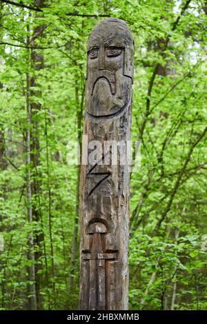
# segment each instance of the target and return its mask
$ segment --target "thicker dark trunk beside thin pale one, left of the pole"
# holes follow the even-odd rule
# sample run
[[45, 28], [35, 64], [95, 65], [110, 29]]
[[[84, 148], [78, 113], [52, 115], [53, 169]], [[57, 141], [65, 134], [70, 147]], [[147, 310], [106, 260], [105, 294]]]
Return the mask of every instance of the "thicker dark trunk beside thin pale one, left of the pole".
[[[34, 0], [34, 5], [37, 7], [44, 6], [44, 0]], [[36, 14], [39, 17], [39, 14]], [[30, 41], [30, 45], [33, 47], [36, 45], [36, 40], [40, 37], [43, 37], [43, 30], [44, 26], [39, 25], [34, 28], [32, 39]], [[31, 64], [34, 68], [34, 71], [39, 71], [43, 69], [43, 54], [39, 54], [37, 50], [31, 51]], [[33, 74], [30, 79], [30, 86], [37, 87], [37, 79], [36, 76]], [[37, 90], [30, 91], [31, 96], [40, 97], [41, 92]], [[35, 259], [35, 277], [36, 277], [36, 295], [37, 295], [37, 309], [43, 310], [43, 297], [41, 295], [41, 287], [43, 286], [43, 277], [42, 274], [39, 274], [39, 270], [42, 270], [43, 265], [41, 263], [41, 256], [42, 252], [42, 245], [44, 241], [44, 234], [43, 234], [43, 227], [42, 227], [42, 220], [41, 220], [41, 205], [40, 205], [40, 181], [41, 178], [39, 174], [39, 121], [37, 120], [37, 114], [41, 110], [41, 104], [32, 102], [30, 103], [31, 106], [31, 125], [32, 125], [32, 132], [30, 134], [31, 140], [31, 163], [32, 163], [32, 182], [31, 182], [31, 190], [32, 190], [32, 220], [35, 221], [37, 224], [39, 223], [41, 227], [41, 231], [37, 233], [34, 232], [34, 245], [37, 246], [34, 252], [34, 259]]]

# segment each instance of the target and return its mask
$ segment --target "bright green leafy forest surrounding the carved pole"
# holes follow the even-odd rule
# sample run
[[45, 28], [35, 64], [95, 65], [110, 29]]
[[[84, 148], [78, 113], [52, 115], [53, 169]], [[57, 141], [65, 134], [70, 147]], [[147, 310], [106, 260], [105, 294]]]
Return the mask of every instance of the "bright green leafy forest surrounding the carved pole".
[[206, 1], [1, 1], [0, 309], [79, 304], [79, 166], [88, 36], [135, 39], [131, 310], [207, 309]]

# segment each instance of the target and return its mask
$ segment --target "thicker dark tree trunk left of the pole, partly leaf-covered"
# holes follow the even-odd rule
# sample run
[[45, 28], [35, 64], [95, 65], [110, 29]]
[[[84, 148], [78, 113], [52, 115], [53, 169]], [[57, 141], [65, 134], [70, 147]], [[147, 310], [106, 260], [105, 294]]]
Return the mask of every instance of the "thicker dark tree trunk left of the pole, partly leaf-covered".
[[[42, 8], [45, 6], [44, 0], [34, 0], [34, 6], [36, 8]], [[35, 224], [33, 234], [33, 247], [34, 249], [34, 282], [35, 282], [35, 295], [37, 299], [37, 309], [43, 309], [43, 300], [41, 295], [41, 287], [43, 286], [43, 277], [40, 273], [42, 270], [41, 256], [43, 254], [43, 227], [41, 220], [41, 172], [40, 172], [40, 145], [39, 145], [39, 113], [41, 112], [41, 103], [38, 98], [41, 97], [41, 91], [39, 90], [39, 83], [37, 81], [37, 74], [43, 69], [43, 52], [42, 50], [36, 50], [39, 47], [39, 41], [43, 37], [43, 31], [45, 26], [39, 23], [40, 14], [34, 14], [34, 29], [32, 31], [32, 37], [28, 41], [28, 47], [30, 50], [30, 62], [31, 73], [28, 74], [28, 105], [30, 106], [30, 218]], [[36, 23], [36, 20], [38, 23]], [[34, 306], [33, 306], [34, 307]]]

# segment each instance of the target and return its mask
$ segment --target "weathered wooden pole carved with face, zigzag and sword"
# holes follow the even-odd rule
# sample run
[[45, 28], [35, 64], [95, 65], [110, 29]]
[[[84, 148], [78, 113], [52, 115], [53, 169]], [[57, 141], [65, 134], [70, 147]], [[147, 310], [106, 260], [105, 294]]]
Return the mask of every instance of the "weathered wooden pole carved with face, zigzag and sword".
[[88, 162], [92, 141], [130, 141], [134, 44], [127, 24], [102, 20], [88, 40], [81, 165], [81, 310], [128, 309], [129, 165], [111, 147]]

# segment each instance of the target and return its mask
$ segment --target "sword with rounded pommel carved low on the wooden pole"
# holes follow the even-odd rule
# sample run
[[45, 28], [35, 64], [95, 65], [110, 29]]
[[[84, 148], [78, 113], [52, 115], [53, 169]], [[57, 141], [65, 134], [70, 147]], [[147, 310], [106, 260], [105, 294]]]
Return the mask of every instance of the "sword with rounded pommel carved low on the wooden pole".
[[110, 307], [110, 295], [107, 290], [115, 290], [115, 265], [117, 250], [106, 250], [103, 236], [108, 233], [108, 223], [105, 219], [94, 218], [86, 226], [86, 234], [90, 235], [90, 249], [83, 250], [83, 263], [88, 285], [88, 307], [91, 310], [106, 310]]

